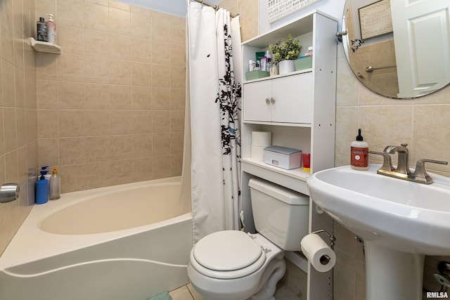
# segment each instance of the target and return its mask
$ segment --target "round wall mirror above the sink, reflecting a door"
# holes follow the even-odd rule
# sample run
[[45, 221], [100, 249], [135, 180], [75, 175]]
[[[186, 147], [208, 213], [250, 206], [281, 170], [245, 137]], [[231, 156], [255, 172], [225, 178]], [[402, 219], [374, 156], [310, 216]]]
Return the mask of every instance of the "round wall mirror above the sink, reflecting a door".
[[416, 98], [450, 83], [450, 0], [346, 0], [342, 44], [362, 84]]

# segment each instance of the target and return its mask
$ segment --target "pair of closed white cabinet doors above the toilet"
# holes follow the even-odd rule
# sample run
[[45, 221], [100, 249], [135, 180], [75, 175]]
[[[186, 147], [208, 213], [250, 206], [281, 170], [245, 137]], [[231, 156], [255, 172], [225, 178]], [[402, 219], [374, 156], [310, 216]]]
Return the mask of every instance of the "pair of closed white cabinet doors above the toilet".
[[244, 122], [311, 124], [312, 72], [244, 84]]

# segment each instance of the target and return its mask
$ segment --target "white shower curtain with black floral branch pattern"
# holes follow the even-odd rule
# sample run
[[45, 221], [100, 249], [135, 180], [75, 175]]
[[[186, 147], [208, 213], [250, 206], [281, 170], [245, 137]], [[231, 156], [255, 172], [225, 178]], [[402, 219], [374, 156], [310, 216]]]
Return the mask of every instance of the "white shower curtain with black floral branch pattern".
[[[195, 243], [209, 233], [240, 229], [239, 18], [231, 19], [223, 8], [214, 11], [188, 1], [186, 33], [185, 124], [191, 139], [185, 138], [185, 148], [191, 145], [188, 175]], [[185, 175], [187, 171], [185, 163]]]

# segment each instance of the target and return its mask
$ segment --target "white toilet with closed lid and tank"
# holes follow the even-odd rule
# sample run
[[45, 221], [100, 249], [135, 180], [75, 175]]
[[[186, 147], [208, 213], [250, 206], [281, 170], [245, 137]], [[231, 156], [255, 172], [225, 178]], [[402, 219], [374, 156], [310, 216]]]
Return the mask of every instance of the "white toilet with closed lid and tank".
[[211, 233], [191, 250], [188, 277], [204, 300], [274, 299], [284, 250], [300, 251], [308, 234], [307, 195], [259, 178], [248, 184], [258, 233]]

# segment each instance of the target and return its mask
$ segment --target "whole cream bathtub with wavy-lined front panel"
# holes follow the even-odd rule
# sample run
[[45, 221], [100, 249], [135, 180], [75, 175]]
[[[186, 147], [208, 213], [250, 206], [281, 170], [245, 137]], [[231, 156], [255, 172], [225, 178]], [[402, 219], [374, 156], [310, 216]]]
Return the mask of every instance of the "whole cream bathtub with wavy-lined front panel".
[[0, 256], [0, 299], [139, 300], [188, 282], [190, 203], [180, 178], [34, 205]]

